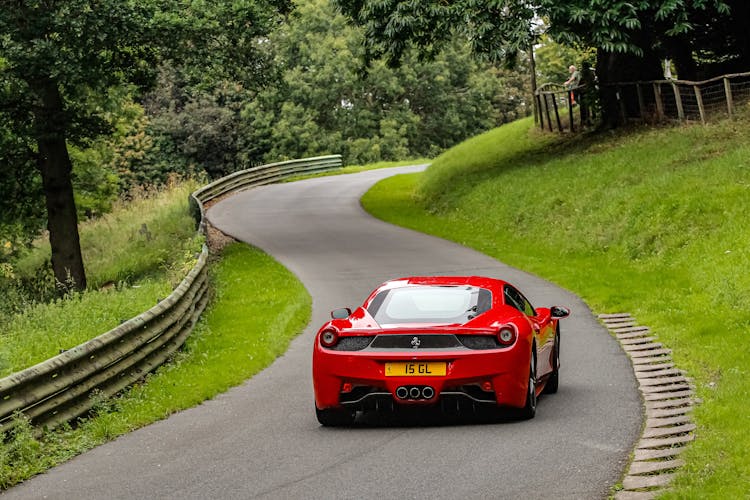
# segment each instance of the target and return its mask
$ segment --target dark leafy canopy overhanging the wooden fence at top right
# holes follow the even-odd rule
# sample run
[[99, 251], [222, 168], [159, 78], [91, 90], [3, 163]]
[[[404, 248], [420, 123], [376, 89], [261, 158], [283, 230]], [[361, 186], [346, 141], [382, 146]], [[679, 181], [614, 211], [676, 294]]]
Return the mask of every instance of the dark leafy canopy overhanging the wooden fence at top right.
[[[535, 18], [549, 22], [557, 41], [597, 49], [600, 82], [660, 77], [660, 53], [669, 41], [695, 30], [712, 16], [729, 12], [723, 0], [457, 0], [399, 2], [396, 0], [336, 0], [341, 10], [366, 32], [367, 56], [385, 54], [396, 63], [409, 46], [434, 53], [451, 34], [470, 40], [474, 53], [492, 60], [512, 59], [533, 40]], [[744, 9], [739, 0], [729, 2]], [[743, 4], [744, 5], [744, 4]], [[731, 21], [742, 40], [745, 18]], [[745, 35], [744, 42], [747, 43]], [[695, 49], [695, 47], [692, 47]], [[694, 50], [689, 52], [692, 57]], [[629, 72], [626, 73], [626, 72]], [[606, 87], [602, 86], [602, 89]], [[617, 117], [613, 95], [602, 95], [604, 116]]]

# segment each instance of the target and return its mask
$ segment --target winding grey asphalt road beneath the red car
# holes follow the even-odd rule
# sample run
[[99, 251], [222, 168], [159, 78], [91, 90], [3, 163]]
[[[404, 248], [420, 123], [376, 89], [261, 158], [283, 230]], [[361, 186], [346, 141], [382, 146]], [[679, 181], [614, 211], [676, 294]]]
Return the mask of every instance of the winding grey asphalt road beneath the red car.
[[[640, 433], [641, 403], [626, 356], [571, 293], [473, 250], [369, 217], [359, 205], [362, 193], [407, 170], [265, 186], [212, 207], [214, 225], [264, 249], [302, 280], [313, 296], [311, 324], [284, 356], [242, 386], [3, 496], [605, 497]], [[535, 419], [318, 425], [310, 374], [315, 330], [331, 309], [359, 305], [382, 281], [420, 274], [502, 277], [534, 304], [572, 309], [562, 323], [559, 392], [540, 398]]]

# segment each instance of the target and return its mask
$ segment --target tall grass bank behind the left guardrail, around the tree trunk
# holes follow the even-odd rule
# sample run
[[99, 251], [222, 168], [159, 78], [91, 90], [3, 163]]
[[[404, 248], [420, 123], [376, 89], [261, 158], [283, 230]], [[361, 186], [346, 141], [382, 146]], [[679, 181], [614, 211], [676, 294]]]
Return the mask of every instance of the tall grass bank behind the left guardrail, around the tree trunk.
[[[195, 264], [203, 242], [188, 211], [194, 187], [186, 182], [140, 193], [112, 213], [81, 224], [89, 279], [85, 292], [44, 300], [54, 288], [42, 283], [49, 276], [39, 272], [49, 259], [47, 241], [14, 262], [12, 278], [0, 279], [0, 292], [7, 297], [0, 305], [0, 377], [92, 339], [168, 296]], [[39, 274], [43, 277], [35, 281]], [[24, 280], [46, 291], [30, 297]]]

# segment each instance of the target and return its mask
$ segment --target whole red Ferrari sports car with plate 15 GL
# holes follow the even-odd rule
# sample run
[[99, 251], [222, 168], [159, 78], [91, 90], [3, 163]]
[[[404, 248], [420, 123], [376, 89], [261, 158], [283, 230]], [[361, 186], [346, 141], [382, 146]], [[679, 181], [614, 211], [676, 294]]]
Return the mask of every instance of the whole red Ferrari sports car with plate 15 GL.
[[559, 384], [561, 306], [534, 308], [517, 288], [484, 277], [387, 281], [354, 312], [318, 331], [318, 421], [348, 425], [357, 411], [401, 406], [507, 407], [533, 418]]

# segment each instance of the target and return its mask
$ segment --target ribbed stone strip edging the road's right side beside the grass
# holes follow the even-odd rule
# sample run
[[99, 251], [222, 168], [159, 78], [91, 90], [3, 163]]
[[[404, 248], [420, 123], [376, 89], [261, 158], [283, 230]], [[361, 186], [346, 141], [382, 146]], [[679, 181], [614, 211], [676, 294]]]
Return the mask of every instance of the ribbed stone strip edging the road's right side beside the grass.
[[655, 498], [669, 486], [676, 469], [684, 465], [679, 455], [694, 439], [691, 412], [698, 402], [694, 387], [674, 366], [672, 351], [656, 342], [650, 328], [638, 326], [628, 313], [600, 314], [599, 320], [630, 356], [646, 414], [633, 462], [615, 499]]

